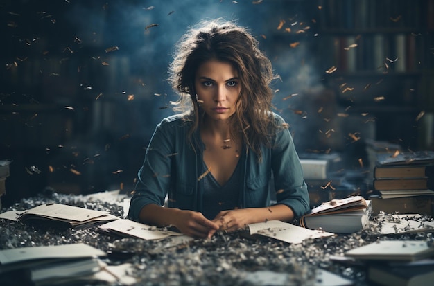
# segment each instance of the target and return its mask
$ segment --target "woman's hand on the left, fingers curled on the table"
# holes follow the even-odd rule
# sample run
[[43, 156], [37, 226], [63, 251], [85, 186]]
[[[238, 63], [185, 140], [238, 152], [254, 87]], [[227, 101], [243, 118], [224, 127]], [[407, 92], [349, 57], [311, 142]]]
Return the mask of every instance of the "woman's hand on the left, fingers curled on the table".
[[219, 225], [216, 222], [208, 220], [196, 211], [179, 210], [174, 218], [176, 228], [193, 238], [211, 238], [212, 234], [218, 230]]

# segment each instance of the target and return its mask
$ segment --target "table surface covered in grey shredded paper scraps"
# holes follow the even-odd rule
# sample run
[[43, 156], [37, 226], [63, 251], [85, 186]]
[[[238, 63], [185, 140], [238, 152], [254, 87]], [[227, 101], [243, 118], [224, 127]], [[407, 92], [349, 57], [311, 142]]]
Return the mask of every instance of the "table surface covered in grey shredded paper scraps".
[[[123, 217], [122, 202], [101, 197], [84, 197], [49, 193], [22, 199], [3, 211], [24, 211], [46, 203], [68, 204], [109, 211]], [[109, 255], [107, 263], [132, 263], [134, 277], [140, 285], [259, 285], [246, 277], [256, 271], [284, 274], [294, 285], [324, 285], [313, 275], [324, 269], [352, 281], [353, 285], [371, 285], [366, 265], [331, 258], [341, 258], [349, 249], [377, 240], [433, 241], [433, 231], [379, 235], [381, 221], [390, 214], [371, 217], [370, 227], [357, 233], [288, 244], [272, 238], [248, 238], [244, 232], [217, 233], [207, 240], [193, 240], [168, 247], [170, 240], [116, 238], [91, 229], [42, 229], [0, 220], [0, 249], [84, 242]], [[381, 217], [380, 217], [381, 216]], [[424, 215], [423, 220], [433, 220]], [[272, 276], [270, 276], [272, 278]], [[94, 285], [94, 284], [92, 284]], [[102, 285], [107, 285], [102, 283]], [[263, 285], [263, 284], [262, 284]]]

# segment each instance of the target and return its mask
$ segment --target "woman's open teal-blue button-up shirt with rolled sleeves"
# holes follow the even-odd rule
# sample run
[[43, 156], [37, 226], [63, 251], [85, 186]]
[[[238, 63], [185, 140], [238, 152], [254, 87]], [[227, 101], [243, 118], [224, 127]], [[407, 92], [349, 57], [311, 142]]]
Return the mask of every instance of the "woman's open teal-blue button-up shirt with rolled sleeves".
[[[284, 119], [274, 113], [272, 116], [282, 128], [272, 135], [272, 148], [261, 147], [262, 160], [258, 161], [256, 154], [244, 148], [246, 153], [240, 162], [243, 183], [238, 202], [240, 208], [270, 206], [270, 191], [273, 191], [276, 204], [285, 204], [295, 217], [300, 217], [309, 210], [302, 166], [289, 129], [284, 127]], [[130, 202], [130, 219], [139, 220], [141, 208], [147, 204], [163, 206], [167, 195], [168, 207], [202, 212], [200, 176], [204, 145], [199, 132], [191, 140], [187, 137], [191, 124], [184, 116], [173, 115], [157, 125], [139, 170]]]

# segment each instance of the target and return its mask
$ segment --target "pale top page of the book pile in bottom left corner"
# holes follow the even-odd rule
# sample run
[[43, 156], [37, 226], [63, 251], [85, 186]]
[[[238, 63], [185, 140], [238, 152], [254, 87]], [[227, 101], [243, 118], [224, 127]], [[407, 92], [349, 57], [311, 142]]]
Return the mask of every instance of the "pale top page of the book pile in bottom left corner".
[[9, 263], [25, 260], [46, 258], [85, 258], [106, 256], [106, 253], [84, 243], [51, 245], [48, 247], [20, 247], [0, 251], [0, 263]]

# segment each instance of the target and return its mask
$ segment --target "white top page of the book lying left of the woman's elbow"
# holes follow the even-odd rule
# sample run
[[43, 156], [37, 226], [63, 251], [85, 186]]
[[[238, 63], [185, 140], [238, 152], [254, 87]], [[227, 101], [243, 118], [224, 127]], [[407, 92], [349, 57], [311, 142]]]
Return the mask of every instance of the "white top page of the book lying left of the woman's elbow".
[[24, 215], [43, 215], [46, 217], [55, 217], [62, 220], [75, 220], [83, 222], [95, 217], [106, 215], [107, 211], [95, 211], [78, 206], [69, 206], [66, 204], [42, 204], [26, 211]]

